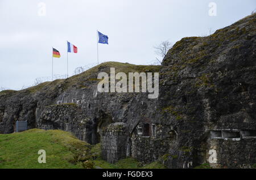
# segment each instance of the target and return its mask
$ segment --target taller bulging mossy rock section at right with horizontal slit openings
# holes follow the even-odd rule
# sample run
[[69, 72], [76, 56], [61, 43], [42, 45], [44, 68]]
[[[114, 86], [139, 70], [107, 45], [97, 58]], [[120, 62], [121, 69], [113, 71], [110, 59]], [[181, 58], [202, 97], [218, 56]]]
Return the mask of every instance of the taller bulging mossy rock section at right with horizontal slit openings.
[[[256, 130], [255, 16], [208, 37], [183, 38], [164, 58], [157, 123], [177, 132], [168, 151], [177, 160], [169, 157], [168, 166], [205, 163], [210, 149], [217, 153], [213, 166], [255, 164], [256, 139], [238, 140], [241, 130]], [[211, 139], [212, 130], [221, 130], [222, 139]]]

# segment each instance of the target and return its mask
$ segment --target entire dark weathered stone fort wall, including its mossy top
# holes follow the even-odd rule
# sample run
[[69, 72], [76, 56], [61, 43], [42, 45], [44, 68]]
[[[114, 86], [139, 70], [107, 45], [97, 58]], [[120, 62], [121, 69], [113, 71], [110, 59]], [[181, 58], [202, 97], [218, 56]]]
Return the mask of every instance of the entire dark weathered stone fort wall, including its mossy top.
[[[102, 63], [80, 75], [0, 93], [0, 133], [28, 128], [71, 131], [102, 144], [109, 162], [131, 156], [168, 168], [256, 164], [256, 15], [208, 37], [176, 42], [162, 66]], [[98, 72], [159, 72], [159, 97], [99, 93]]]

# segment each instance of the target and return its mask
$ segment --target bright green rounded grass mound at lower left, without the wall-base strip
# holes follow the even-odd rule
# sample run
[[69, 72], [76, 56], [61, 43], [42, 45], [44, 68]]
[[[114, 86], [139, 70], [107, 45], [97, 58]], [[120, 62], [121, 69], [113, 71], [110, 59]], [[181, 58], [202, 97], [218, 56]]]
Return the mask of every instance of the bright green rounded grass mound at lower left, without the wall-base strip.
[[[77, 151], [89, 148], [69, 132], [32, 129], [14, 134], [0, 134], [0, 168], [82, 168], [74, 163]], [[38, 151], [46, 151], [46, 163], [38, 162]]]

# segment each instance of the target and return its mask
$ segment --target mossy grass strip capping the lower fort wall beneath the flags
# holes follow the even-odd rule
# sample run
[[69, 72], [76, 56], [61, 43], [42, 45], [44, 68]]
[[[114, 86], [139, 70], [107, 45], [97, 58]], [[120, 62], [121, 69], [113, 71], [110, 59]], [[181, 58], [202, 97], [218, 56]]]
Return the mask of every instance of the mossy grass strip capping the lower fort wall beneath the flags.
[[97, 75], [101, 68], [106, 68], [106, 72], [110, 71], [110, 67], [115, 67], [115, 73], [125, 72], [159, 72], [160, 66], [154, 65], [133, 65], [130, 63], [121, 63], [121, 62], [104, 62], [100, 65], [89, 68], [88, 70], [82, 72], [78, 75], [73, 75], [67, 79], [56, 79], [52, 82], [43, 82], [38, 85], [22, 89], [20, 91], [14, 90], [3, 90], [0, 91], [1, 96], [12, 96], [16, 93], [36, 93], [39, 91], [46, 91], [50, 94], [52, 91], [56, 91], [56, 88], [63, 87], [63, 90], [69, 88], [88, 88], [88, 84], [97, 81]]

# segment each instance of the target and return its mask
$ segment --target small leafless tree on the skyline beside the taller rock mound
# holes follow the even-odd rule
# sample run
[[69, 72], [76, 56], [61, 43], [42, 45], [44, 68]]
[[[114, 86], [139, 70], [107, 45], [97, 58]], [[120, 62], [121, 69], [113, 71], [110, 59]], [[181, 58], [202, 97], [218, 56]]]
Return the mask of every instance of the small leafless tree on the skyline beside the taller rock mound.
[[161, 64], [163, 61], [163, 58], [166, 57], [168, 50], [172, 48], [172, 43], [166, 40], [161, 42], [158, 46], [154, 46], [154, 48], [155, 48], [155, 54], [161, 57], [161, 59], [156, 57], [156, 61], [158, 61], [158, 63]]

